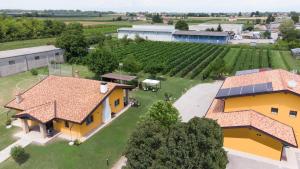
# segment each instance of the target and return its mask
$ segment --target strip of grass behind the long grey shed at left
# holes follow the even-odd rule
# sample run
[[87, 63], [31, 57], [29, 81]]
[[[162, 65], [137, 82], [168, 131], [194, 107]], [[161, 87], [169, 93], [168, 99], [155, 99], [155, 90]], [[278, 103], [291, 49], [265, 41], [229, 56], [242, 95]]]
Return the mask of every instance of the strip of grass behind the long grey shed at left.
[[4, 43], [0, 43], [0, 51], [1, 50], [11, 50], [11, 49], [34, 47], [34, 46], [42, 46], [42, 45], [47, 45], [47, 44], [54, 44], [54, 42], [55, 42], [55, 38], [44, 38], [44, 39], [32, 39], [32, 40], [4, 42]]

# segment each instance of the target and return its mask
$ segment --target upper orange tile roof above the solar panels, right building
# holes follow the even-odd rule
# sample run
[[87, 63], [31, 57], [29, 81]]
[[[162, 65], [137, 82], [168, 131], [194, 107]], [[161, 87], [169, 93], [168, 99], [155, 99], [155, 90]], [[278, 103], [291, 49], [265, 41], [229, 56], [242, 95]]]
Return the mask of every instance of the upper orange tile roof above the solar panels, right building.
[[[296, 87], [289, 87], [289, 81], [295, 81], [297, 84]], [[282, 69], [228, 77], [224, 81], [221, 88], [225, 89], [232, 87], [241, 87], [268, 82], [272, 83], [273, 91], [285, 90], [300, 94], [300, 76]]]

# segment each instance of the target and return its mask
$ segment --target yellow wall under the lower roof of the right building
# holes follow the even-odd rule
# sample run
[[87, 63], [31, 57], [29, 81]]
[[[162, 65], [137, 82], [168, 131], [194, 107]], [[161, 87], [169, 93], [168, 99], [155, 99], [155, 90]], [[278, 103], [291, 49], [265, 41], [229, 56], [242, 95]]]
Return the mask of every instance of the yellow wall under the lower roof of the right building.
[[251, 128], [227, 128], [224, 132], [224, 146], [252, 153], [274, 160], [280, 160], [282, 144], [255, 129]]

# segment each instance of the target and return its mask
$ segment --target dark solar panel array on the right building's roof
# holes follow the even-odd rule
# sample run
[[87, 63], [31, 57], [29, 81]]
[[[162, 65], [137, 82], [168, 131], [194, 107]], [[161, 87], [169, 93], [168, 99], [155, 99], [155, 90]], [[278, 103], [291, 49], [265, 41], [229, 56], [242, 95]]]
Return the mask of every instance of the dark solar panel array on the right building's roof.
[[256, 93], [265, 93], [273, 91], [272, 82], [259, 83], [255, 85], [240, 86], [220, 89], [217, 98], [230, 97], [230, 96], [241, 96], [241, 95], [251, 95]]

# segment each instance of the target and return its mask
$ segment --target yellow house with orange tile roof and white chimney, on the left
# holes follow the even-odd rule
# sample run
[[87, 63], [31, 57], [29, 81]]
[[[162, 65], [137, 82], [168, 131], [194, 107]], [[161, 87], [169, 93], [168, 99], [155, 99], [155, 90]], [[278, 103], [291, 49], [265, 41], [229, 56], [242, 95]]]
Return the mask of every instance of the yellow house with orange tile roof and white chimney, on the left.
[[72, 139], [81, 138], [128, 103], [131, 86], [74, 77], [48, 76], [5, 107], [17, 110], [23, 130], [39, 130], [43, 137], [51, 131]]

